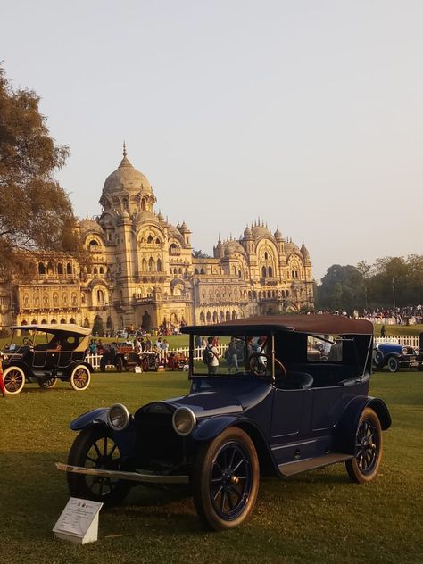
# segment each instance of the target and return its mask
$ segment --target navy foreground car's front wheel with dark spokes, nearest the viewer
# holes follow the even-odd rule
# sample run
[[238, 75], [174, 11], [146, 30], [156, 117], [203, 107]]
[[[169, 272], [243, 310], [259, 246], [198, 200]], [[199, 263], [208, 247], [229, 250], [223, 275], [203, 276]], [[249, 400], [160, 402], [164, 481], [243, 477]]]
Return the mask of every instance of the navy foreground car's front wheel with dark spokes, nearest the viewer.
[[193, 469], [195, 508], [215, 531], [237, 527], [253, 510], [259, 490], [259, 460], [253, 441], [229, 427], [197, 453]]

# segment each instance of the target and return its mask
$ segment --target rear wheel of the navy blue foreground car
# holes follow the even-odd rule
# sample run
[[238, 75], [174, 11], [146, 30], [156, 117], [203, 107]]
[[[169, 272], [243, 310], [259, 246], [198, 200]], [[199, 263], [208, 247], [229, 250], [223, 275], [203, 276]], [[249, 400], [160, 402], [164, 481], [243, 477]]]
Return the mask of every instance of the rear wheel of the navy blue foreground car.
[[376, 477], [382, 460], [382, 428], [375, 411], [367, 407], [361, 413], [355, 436], [355, 456], [345, 462], [352, 482], [366, 484]]

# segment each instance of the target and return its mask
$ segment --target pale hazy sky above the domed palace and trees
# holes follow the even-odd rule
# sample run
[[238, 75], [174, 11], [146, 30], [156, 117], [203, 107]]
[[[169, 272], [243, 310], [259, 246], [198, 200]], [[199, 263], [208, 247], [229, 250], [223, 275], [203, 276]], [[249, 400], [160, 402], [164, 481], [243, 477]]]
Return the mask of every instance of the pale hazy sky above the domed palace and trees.
[[126, 140], [156, 209], [195, 249], [258, 216], [314, 276], [423, 253], [421, 0], [14, 0], [0, 60], [98, 215]]

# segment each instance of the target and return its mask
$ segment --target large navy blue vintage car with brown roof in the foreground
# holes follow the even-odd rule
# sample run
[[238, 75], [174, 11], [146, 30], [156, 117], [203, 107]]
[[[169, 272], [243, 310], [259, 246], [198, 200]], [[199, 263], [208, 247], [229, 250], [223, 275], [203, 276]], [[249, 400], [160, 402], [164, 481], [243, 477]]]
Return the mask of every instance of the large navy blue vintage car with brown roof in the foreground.
[[[187, 395], [132, 415], [116, 403], [71, 422], [79, 435], [67, 464], [57, 463], [71, 495], [112, 504], [137, 483], [189, 484], [205, 525], [221, 530], [251, 513], [260, 474], [291, 477], [344, 462], [353, 482], [377, 476], [391, 417], [385, 402], [368, 395], [369, 321], [271, 316], [183, 332], [190, 336]], [[228, 374], [222, 359], [216, 366], [195, 360], [200, 334], [243, 343], [238, 371]], [[339, 361], [308, 355], [309, 341], [325, 334]]]

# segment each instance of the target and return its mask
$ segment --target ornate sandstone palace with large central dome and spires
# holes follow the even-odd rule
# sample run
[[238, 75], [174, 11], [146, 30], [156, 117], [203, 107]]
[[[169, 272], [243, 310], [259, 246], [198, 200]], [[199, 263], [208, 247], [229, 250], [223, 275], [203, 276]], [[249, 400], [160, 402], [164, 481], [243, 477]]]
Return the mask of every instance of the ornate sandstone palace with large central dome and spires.
[[34, 279], [6, 284], [0, 272], [0, 325], [77, 323], [105, 329], [178, 327], [313, 307], [310, 255], [255, 221], [239, 239], [220, 240], [213, 258], [195, 256], [185, 221], [154, 211], [156, 197], [124, 146], [106, 178], [101, 214], [78, 229], [91, 261], [37, 254]]

